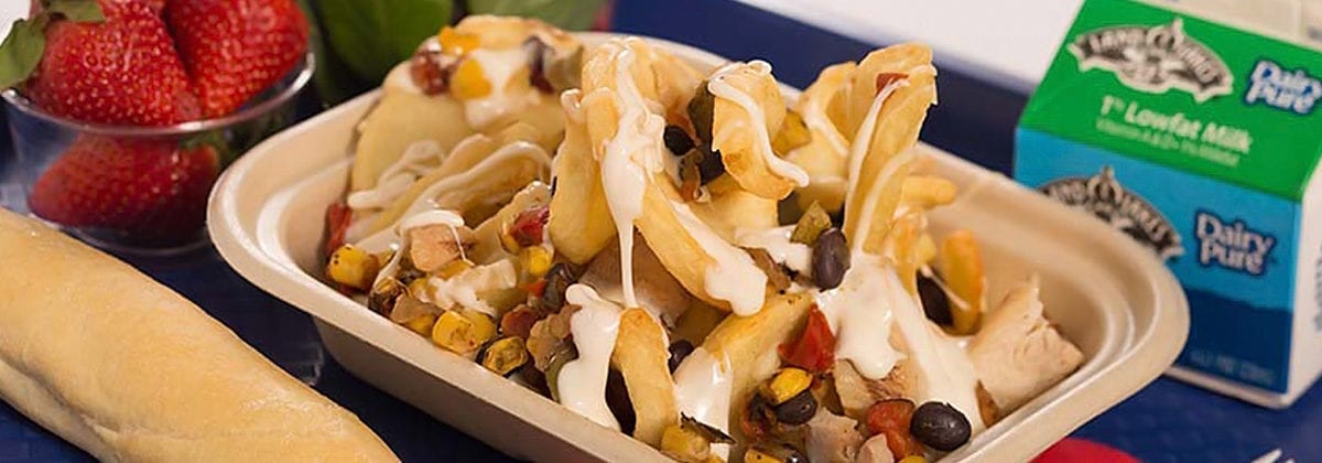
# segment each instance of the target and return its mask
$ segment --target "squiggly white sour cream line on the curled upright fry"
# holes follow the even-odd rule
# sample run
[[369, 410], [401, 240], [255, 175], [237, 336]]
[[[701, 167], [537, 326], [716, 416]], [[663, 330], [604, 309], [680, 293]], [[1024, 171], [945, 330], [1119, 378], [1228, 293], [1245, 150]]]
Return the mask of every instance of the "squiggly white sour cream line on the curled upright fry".
[[[767, 163], [767, 168], [777, 176], [793, 181], [798, 187], [808, 187], [808, 172], [804, 172], [804, 169], [798, 168], [798, 165], [795, 165], [793, 163], [780, 159], [776, 156], [776, 151], [771, 148], [771, 134], [767, 132], [767, 115], [761, 111], [761, 106], [758, 106], [758, 102], [754, 101], [747, 93], [735, 89], [735, 86], [730, 85], [730, 82], [726, 82], [730, 74], [734, 74], [743, 66], [744, 65], [738, 62], [724, 65], [718, 69], [707, 82], [707, 91], [710, 91], [711, 95], [724, 98], [735, 105], [739, 105], [739, 107], [748, 112], [748, 118], [751, 119], [752, 127], [744, 127], [743, 124], [727, 124], [722, 132], [751, 130], [754, 134], [752, 148], [754, 151], [760, 152], [763, 161]], [[761, 60], [750, 61], [747, 67], [752, 69], [758, 75], [771, 74], [771, 65]], [[714, 138], [718, 140], [724, 139], [724, 136], [719, 134]], [[715, 144], [713, 144], [711, 148], [717, 151], [720, 149], [720, 147]]]

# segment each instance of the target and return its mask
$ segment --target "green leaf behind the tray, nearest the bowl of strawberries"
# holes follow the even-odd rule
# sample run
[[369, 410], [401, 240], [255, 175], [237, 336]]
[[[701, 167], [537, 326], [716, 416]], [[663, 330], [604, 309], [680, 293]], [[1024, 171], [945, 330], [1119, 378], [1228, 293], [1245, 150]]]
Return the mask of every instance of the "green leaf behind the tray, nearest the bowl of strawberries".
[[381, 82], [427, 37], [449, 24], [451, 0], [321, 0], [323, 32], [361, 79]]

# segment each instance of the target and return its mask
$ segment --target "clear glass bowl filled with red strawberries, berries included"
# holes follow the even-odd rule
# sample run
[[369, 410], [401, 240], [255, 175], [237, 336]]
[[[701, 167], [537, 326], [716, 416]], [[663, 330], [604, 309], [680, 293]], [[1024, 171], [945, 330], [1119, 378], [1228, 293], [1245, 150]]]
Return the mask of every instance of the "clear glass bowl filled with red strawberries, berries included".
[[296, 0], [33, 1], [0, 44], [26, 206], [103, 249], [205, 243], [212, 184], [313, 67]]

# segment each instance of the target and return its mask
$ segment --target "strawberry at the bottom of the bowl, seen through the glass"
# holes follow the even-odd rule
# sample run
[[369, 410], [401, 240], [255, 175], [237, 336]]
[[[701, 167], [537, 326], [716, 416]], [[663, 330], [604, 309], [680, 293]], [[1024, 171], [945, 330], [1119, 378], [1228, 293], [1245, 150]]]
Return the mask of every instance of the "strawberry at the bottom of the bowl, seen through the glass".
[[37, 179], [28, 206], [53, 222], [144, 242], [188, 238], [202, 226], [217, 161], [208, 144], [82, 135]]

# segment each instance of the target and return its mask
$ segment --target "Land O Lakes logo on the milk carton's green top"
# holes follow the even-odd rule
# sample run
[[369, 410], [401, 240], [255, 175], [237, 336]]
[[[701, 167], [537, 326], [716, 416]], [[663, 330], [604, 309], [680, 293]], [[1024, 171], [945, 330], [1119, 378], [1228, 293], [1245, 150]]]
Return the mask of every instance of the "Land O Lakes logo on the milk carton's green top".
[[1080, 34], [1068, 45], [1079, 70], [1105, 69], [1125, 86], [1153, 94], [1179, 89], [1199, 103], [1227, 95], [1235, 77], [1216, 53], [1185, 34], [1177, 17], [1169, 25], [1121, 25]]

